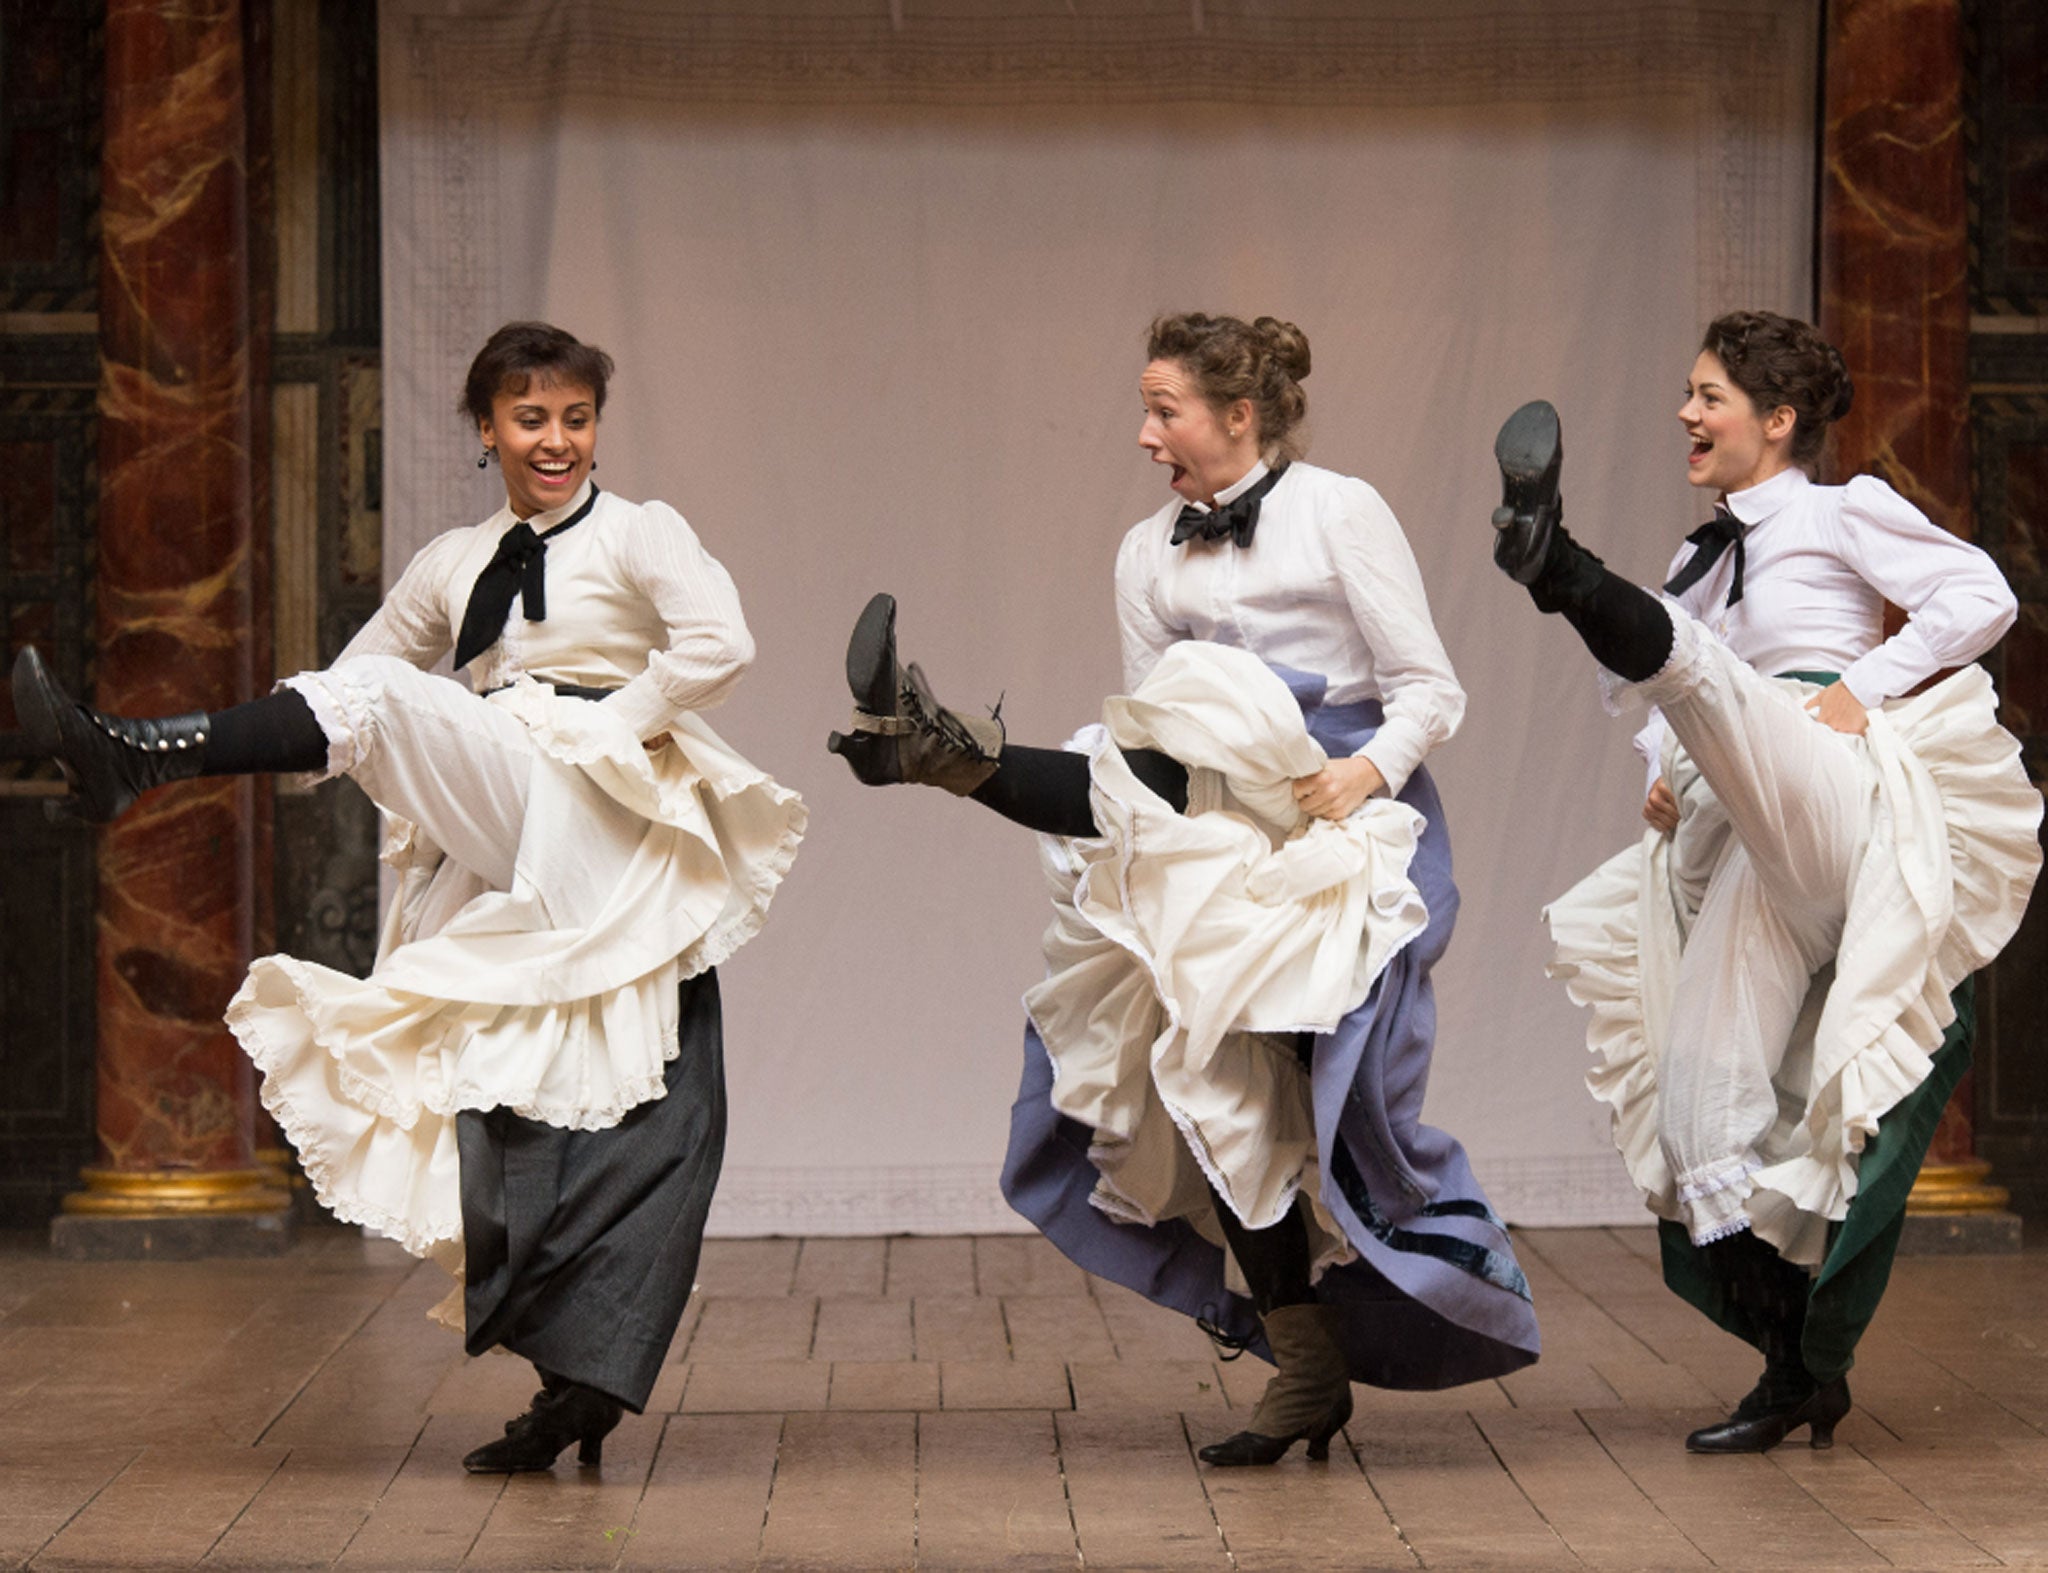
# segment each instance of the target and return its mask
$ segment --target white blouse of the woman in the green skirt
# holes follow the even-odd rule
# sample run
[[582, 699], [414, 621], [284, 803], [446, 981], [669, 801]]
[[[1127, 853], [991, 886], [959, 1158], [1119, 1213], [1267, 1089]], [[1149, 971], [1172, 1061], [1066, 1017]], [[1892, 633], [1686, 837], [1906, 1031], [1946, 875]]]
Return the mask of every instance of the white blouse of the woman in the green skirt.
[[[1792, 467], [1726, 496], [1743, 524], [1743, 598], [1729, 606], [1735, 553], [1722, 553], [1677, 604], [1765, 676], [1839, 672], [1864, 707], [1966, 666], [2019, 617], [1997, 563], [1944, 530], [1876, 475], [1815, 485]], [[1692, 557], [1681, 545], [1667, 580]], [[1907, 625], [1884, 637], [1884, 602]], [[1663, 719], [1636, 733], [1655, 780]]]

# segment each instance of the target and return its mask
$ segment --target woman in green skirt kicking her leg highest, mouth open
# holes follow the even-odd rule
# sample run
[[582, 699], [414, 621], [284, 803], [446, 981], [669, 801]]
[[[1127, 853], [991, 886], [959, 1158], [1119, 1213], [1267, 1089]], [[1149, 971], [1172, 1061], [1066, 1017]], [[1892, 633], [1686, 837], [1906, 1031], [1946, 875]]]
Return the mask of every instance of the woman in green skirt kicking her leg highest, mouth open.
[[[1970, 1063], [1970, 973], [2019, 926], [2042, 860], [2040, 793], [1970, 666], [2013, 594], [1884, 481], [1815, 485], [1849, 399], [1806, 324], [1714, 320], [1677, 418], [1716, 514], [1663, 598], [1565, 533], [1548, 403], [1495, 447], [1495, 561], [1565, 614], [1610, 709], [1655, 707], [1651, 830], [1550, 905], [1550, 971], [1593, 1010], [1589, 1086], [1663, 1221], [1665, 1282], [1763, 1354], [1694, 1452], [1800, 1428], [1833, 1442], [1907, 1190]], [[1886, 600], [1907, 612], [1890, 637]]]

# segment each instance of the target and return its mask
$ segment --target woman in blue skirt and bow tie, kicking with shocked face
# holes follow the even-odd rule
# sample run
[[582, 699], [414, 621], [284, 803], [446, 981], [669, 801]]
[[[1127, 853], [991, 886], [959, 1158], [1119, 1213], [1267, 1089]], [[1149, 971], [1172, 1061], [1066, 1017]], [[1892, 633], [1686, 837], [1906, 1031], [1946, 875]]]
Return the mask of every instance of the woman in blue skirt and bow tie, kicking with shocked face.
[[1464, 713], [1415, 557], [1364, 481], [1300, 461], [1292, 324], [1169, 315], [1139, 447], [1174, 500], [1116, 561], [1124, 694], [1067, 750], [956, 715], [877, 596], [831, 750], [1042, 834], [1004, 1194], [1079, 1266], [1278, 1372], [1210, 1464], [1323, 1458], [1352, 1380], [1536, 1358], [1464, 1153], [1421, 1124], [1430, 969], [1458, 893], [1423, 756]]

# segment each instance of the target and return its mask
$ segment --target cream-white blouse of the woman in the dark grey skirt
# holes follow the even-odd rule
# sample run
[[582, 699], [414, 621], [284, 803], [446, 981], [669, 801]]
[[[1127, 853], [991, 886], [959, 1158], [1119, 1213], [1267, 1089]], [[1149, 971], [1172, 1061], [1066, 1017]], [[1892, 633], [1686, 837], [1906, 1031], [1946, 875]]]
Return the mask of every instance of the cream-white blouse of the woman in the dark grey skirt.
[[[547, 530], [590, 496], [535, 514]], [[481, 524], [428, 541], [383, 606], [348, 641], [350, 655], [397, 655], [432, 666], [455, 643], [477, 573], [518, 522], [510, 506]], [[647, 739], [684, 711], [723, 703], [754, 660], [731, 576], [666, 502], [598, 494], [590, 516], [547, 543], [547, 619], [528, 623], [518, 596], [506, 631], [469, 664], [477, 692], [522, 676], [616, 688], [602, 700]]]

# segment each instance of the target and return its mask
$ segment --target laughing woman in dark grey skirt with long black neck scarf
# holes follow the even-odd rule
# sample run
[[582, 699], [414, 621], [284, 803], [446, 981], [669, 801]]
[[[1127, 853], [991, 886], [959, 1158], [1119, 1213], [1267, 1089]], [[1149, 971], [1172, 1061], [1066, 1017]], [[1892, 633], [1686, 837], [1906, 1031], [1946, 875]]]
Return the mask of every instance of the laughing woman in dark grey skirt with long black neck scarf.
[[[367, 979], [264, 956], [227, 1008], [319, 1200], [461, 1280], [436, 1315], [539, 1370], [475, 1473], [600, 1462], [696, 1276], [725, 1151], [715, 967], [752, 938], [803, 803], [711, 731], [754, 641], [659, 502], [600, 492], [608, 354], [514, 322], [463, 414], [506, 502], [430, 541], [334, 666], [133, 721], [14, 666], [23, 725], [113, 819], [199, 774], [346, 774], [399, 875]], [[455, 651], [471, 686], [426, 668]]]

